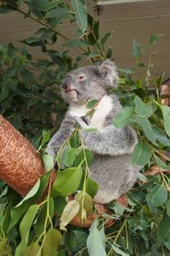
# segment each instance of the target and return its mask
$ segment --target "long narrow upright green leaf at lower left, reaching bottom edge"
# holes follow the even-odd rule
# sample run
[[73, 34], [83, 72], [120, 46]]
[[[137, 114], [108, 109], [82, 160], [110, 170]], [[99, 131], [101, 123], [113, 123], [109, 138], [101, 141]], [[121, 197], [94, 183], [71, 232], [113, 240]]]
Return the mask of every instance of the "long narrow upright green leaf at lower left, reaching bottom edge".
[[35, 219], [37, 215], [37, 210], [39, 206], [33, 205], [27, 209], [27, 213], [25, 214], [24, 218], [21, 221], [21, 224], [19, 226], [19, 231], [21, 234], [21, 242], [16, 247], [16, 256], [22, 256], [23, 252], [27, 249], [27, 243], [28, 243], [28, 237], [29, 237], [29, 231], [31, 229], [33, 220]]

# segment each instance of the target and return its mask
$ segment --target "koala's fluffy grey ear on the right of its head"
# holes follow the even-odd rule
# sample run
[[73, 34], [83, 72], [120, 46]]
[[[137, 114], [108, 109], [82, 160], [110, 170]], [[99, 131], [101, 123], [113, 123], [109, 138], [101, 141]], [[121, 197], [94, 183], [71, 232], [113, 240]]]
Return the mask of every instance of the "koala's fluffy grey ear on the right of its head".
[[106, 59], [101, 63], [100, 66], [97, 67], [98, 74], [107, 80], [107, 86], [109, 88], [117, 88], [118, 87], [118, 73], [117, 68], [110, 59]]

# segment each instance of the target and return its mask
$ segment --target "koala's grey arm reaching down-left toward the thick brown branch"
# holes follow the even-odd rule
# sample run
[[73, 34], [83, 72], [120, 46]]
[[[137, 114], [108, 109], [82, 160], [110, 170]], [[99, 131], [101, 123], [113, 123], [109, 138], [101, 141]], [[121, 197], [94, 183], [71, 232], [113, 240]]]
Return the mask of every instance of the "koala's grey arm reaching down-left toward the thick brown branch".
[[60, 125], [58, 132], [53, 135], [48, 143], [48, 146], [45, 150], [48, 155], [55, 156], [58, 153], [60, 146], [64, 144], [70, 133], [73, 131], [74, 124], [74, 119], [69, 115], [69, 113], [67, 113]]

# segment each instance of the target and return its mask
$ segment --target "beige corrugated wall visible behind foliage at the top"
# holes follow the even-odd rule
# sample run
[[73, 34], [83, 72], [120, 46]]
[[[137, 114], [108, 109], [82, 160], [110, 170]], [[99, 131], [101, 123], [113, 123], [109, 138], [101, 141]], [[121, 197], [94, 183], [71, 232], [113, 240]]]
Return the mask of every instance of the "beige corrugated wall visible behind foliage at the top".
[[[94, 10], [96, 1], [86, 2], [90, 13], [97, 16]], [[23, 9], [26, 10], [26, 7]], [[164, 34], [153, 48], [156, 52], [154, 74], [166, 71], [165, 78], [170, 77], [170, 0], [106, 5], [103, 6], [100, 19], [101, 33], [114, 31], [109, 45], [112, 45], [116, 63], [121, 67], [133, 65], [133, 38], [144, 47], [151, 34]], [[0, 43], [13, 42], [19, 45], [19, 41], [30, 37], [38, 27], [40, 26], [36, 22], [24, 19], [22, 14], [16, 12], [0, 15]], [[74, 28], [76, 27], [69, 24], [61, 27], [67, 37], [74, 37]], [[37, 49], [33, 53], [35, 58], [41, 56]], [[149, 54], [151, 53], [148, 56]]]

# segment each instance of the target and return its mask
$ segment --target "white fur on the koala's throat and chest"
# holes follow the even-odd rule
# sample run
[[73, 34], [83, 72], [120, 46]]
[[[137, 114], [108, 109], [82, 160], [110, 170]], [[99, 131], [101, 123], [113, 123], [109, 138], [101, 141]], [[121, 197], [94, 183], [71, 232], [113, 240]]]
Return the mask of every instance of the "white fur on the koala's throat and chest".
[[[83, 106], [69, 106], [69, 114], [72, 116], [83, 116], [90, 110], [86, 108], [86, 105]], [[96, 111], [94, 112], [90, 126], [93, 126], [101, 131], [104, 128], [104, 123], [106, 117], [112, 111], [112, 98], [108, 95], [104, 95], [97, 106]]]

